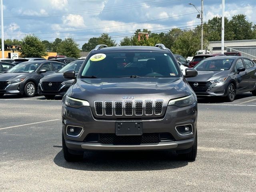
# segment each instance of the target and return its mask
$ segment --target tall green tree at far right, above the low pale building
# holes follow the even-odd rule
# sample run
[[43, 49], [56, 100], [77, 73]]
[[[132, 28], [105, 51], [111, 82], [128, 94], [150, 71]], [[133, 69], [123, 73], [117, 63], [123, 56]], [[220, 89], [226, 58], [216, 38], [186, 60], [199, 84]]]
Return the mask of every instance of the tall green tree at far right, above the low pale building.
[[244, 14], [232, 16], [230, 24], [234, 32], [234, 40], [247, 40], [253, 38], [252, 23], [246, 20]]

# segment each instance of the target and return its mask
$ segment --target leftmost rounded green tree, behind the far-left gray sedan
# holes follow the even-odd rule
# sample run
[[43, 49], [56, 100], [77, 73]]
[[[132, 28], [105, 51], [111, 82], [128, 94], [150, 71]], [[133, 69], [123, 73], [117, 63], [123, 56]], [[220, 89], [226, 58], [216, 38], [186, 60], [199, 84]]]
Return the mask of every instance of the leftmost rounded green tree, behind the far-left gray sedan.
[[22, 39], [21, 57], [44, 57], [47, 56], [46, 48], [37, 36], [26, 35]]

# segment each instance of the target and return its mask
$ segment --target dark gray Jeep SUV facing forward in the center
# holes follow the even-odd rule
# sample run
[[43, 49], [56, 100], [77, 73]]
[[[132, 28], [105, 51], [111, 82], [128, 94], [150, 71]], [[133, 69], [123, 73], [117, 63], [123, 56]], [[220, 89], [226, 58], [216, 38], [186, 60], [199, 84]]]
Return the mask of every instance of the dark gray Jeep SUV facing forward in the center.
[[197, 99], [172, 52], [163, 44], [98, 45], [62, 102], [62, 147], [67, 161], [86, 150], [176, 150], [194, 161]]

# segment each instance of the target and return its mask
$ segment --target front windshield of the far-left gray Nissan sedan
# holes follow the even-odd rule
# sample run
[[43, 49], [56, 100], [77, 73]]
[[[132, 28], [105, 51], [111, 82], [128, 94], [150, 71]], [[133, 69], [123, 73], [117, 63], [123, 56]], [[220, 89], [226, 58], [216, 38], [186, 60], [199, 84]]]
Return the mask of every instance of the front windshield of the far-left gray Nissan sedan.
[[38, 68], [38, 66], [40, 66], [40, 63], [25, 63], [22, 62], [20, 64], [17, 64], [16, 66], [14, 66], [13, 68], [11, 68], [10, 70], [8, 70], [8, 73], [26, 73], [26, 72], [34, 72], [36, 71], [36, 69]]

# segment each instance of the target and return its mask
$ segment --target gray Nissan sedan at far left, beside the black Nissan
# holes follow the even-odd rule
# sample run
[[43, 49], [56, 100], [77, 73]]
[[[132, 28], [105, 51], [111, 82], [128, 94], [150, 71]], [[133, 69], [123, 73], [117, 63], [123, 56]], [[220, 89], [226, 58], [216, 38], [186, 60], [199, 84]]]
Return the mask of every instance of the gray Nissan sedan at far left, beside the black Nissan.
[[17, 64], [6, 73], [0, 74], [0, 96], [25, 94], [33, 97], [37, 93], [40, 79], [65, 65], [56, 61], [28, 61]]

